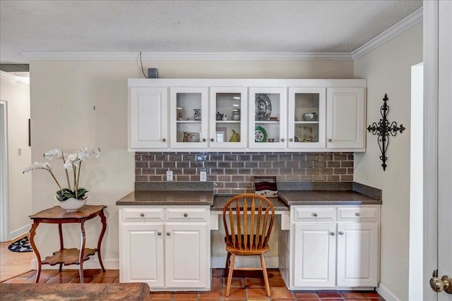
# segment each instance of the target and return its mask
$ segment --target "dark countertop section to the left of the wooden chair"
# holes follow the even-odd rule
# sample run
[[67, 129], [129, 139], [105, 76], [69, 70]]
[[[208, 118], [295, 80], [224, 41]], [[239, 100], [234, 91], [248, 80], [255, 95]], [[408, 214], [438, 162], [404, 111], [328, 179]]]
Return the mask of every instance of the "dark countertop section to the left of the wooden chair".
[[133, 191], [119, 199], [116, 204], [121, 206], [153, 206], [153, 205], [213, 205], [213, 190], [184, 191]]

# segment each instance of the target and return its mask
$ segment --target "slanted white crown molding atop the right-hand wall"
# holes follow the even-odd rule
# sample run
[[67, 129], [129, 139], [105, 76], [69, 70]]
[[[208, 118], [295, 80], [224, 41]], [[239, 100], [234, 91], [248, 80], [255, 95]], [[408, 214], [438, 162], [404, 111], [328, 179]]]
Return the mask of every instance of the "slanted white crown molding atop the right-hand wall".
[[377, 47], [380, 47], [382, 44], [388, 42], [390, 39], [397, 37], [402, 32], [408, 30], [410, 27], [416, 25], [417, 23], [422, 22], [423, 19], [422, 16], [423, 14], [421, 7], [418, 8], [417, 11], [412, 13], [410, 16], [401, 20], [399, 23], [396, 23], [396, 25], [393, 25], [392, 27], [388, 28], [388, 30], [382, 32], [380, 35], [374, 37], [374, 39], [371, 39], [369, 42], [362, 45], [362, 47], [359, 47], [355, 51], [352, 51], [351, 55], [353, 61], [356, 61], [361, 56], [364, 56], [364, 54], [367, 54], [370, 51], [376, 49]]

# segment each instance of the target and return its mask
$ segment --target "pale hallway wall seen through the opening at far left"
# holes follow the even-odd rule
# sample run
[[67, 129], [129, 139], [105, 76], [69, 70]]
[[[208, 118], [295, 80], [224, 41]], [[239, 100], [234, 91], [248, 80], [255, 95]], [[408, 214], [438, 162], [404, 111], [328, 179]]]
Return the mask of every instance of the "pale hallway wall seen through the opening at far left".
[[[31, 161], [28, 146], [28, 118], [30, 118], [30, 86], [20, 80], [0, 75], [0, 99], [8, 107], [8, 206], [9, 239], [26, 233], [32, 214], [31, 176], [23, 168]], [[18, 148], [22, 155], [18, 156]], [[1, 213], [3, 214], [3, 212]]]

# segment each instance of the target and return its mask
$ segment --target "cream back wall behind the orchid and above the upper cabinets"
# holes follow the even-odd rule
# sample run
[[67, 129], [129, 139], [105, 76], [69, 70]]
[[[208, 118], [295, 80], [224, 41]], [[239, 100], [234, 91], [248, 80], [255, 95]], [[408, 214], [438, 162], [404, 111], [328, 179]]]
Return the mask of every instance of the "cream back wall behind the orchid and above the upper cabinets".
[[[145, 70], [158, 68], [160, 78], [353, 78], [352, 61], [143, 61], [143, 65]], [[42, 154], [53, 148], [102, 149], [100, 158], [86, 161], [81, 184], [90, 190], [88, 204], [108, 206], [102, 260], [107, 268], [117, 269], [115, 202], [133, 190], [135, 172], [133, 153], [126, 150], [127, 79], [143, 77], [139, 61], [33, 61], [30, 75], [32, 161], [43, 161]], [[61, 177], [59, 162], [50, 163]], [[50, 176], [34, 171], [32, 180], [32, 210], [54, 206], [57, 186]], [[69, 236], [65, 243], [77, 246], [79, 228], [64, 226], [65, 238]], [[98, 219], [88, 221], [85, 230], [87, 246], [95, 246]], [[35, 240], [43, 256], [58, 250], [57, 226], [41, 224]]]

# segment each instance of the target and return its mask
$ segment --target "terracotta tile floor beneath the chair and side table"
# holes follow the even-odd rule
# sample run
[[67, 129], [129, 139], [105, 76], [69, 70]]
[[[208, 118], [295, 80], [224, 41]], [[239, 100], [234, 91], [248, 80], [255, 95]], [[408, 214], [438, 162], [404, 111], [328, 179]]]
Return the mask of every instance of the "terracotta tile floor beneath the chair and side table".
[[[36, 271], [29, 271], [4, 281], [4, 283], [34, 283]], [[100, 269], [83, 271], [85, 283], [117, 283], [118, 270]], [[349, 290], [287, 290], [278, 269], [268, 270], [271, 297], [267, 297], [263, 278], [258, 271], [237, 271], [232, 279], [231, 293], [225, 297], [226, 278], [222, 277], [222, 269], [213, 269], [212, 283], [209, 292], [153, 292], [152, 300], [161, 301], [213, 301], [213, 300], [273, 300], [273, 301], [384, 301], [375, 291]], [[42, 270], [40, 283], [79, 283], [78, 270], [63, 269]]]

